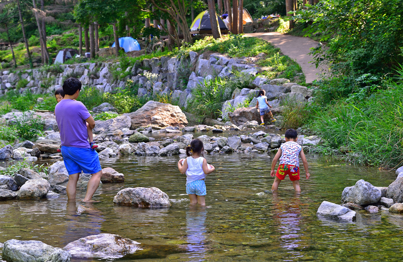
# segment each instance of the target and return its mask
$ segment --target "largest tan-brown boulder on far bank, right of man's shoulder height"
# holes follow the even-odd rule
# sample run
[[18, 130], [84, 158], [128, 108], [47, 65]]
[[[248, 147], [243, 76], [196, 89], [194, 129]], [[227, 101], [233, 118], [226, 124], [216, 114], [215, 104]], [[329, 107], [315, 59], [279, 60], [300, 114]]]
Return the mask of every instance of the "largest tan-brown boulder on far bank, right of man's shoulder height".
[[185, 114], [179, 106], [164, 104], [156, 101], [148, 101], [136, 112], [129, 113], [131, 128], [139, 126], [157, 125], [161, 127], [187, 125]]

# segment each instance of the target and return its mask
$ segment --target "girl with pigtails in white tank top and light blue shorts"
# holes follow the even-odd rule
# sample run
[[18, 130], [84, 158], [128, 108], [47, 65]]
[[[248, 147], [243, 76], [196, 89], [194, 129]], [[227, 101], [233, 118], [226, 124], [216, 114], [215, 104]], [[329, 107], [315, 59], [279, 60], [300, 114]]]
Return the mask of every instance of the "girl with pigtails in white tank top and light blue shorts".
[[187, 158], [178, 162], [179, 171], [182, 174], [186, 173], [186, 193], [189, 195], [191, 205], [206, 205], [205, 178], [215, 170], [213, 165], [207, 164], [203, 152], [203, 142], [193, 139], [186, 147]]

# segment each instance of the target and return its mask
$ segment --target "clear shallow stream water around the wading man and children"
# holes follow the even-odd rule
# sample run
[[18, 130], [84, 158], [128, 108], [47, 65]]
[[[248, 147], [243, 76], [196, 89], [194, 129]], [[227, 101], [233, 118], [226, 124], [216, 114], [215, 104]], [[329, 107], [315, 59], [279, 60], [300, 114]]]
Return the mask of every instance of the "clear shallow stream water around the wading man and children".
[[[217, 170], [206, 180], [206, 208], [189, 207], [186, 177], [177, 170], [179, 156], [116, 158], [101, 164], [124, 173], [125, 182], [103, 185], [95, 194], [101, 203], [67, 205], [65, 195], [0, 202], [0, 242], [40, 240], [63, 247], [88, 235], [113, 233], [144, 247], [115, 261], [401, 261], [403, 215], [359, 212], [356, 222], [344, 223], [316, 217], [322, 201], [340, 203], [345, 186], [359, 179], [387, 186], [393, 173], [329, 164], [308, 154], [311, 178], [301, 180], [298, 197], [288, 178], [278, 195], [270, 192], [267, 154], [206, 158]], [[137, 186], [160, 188], [172, 207], [138, 209], [112, 203], [118, 190]], [[77, 214], [79, 205], [88, 210]]]

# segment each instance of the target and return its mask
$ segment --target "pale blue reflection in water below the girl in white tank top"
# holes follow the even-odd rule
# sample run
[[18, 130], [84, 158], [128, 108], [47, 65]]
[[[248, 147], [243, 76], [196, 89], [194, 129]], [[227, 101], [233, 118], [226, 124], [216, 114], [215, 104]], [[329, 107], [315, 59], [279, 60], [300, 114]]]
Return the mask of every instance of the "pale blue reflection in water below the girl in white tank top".
[[206, 207], [190, 205], [186, 211], [186, 239], [189, 243], [187, 250], [191, 252], [188, 261], [204, 261], [206, 254]]

